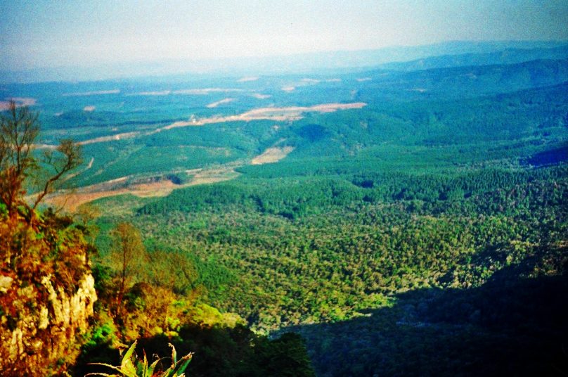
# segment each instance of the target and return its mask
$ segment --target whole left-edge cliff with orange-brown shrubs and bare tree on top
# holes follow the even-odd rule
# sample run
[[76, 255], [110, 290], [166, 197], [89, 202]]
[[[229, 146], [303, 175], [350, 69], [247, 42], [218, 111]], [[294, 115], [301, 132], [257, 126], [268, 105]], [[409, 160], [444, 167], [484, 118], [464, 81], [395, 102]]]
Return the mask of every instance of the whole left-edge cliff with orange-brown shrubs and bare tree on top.
[[[41, 200], [80, 161], [62, 141], [39, 160], [37, 115], [11, 103], [0, 118], [0, 373], [59, 373], [75, 362], [97, 300], [86, 229]], [[40, 162], [41, 161], [41, 162]], [[41, 180], [41, 177], [44, 179]], [[37, 186], [39, 184], [40, 186]], [[35, 190], [27, 198], [27, 189]], [[30, 204], [31, 203], [31, 204]], [[71, 340], [71, 341], [70, 341]]]

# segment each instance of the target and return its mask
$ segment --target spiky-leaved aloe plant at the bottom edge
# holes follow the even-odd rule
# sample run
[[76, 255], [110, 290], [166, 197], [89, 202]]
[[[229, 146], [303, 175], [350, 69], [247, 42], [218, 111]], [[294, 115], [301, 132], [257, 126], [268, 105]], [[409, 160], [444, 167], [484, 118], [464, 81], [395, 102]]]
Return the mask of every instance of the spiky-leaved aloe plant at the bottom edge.
[[113, 366], [104, 363], [91, 363], [90, 365], [102, 365], [118, 372], [118, 374], [108, 374], [108, 373], [88, 373], [85, 376], [105, 376], [105, 377], [185, 377], [184, 371], [191, 362], [191, 357], [193, 354], [190, 352], [186, 356], [177, 359], [176, 348], [169, 343], [169, 347], [172, 347], [172, 364], [165, 371], [155, 372], [158, 362], [162, 359], [157, 359], [150, 366], [148, 366], [148, 359], [146, 358], [146, 353], [143, 359], [138, 359], [134, 353], [136, 348], [136, 341], [132, 343], [124, 356], [122, 357], [122, 362], [120, 366]]

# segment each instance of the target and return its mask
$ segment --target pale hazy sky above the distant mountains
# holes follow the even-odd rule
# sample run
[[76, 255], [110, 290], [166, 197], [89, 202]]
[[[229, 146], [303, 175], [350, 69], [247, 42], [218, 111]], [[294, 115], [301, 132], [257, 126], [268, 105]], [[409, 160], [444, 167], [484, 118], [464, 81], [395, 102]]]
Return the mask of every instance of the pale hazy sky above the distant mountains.
[[0, 70], [568, 39], [568, 0], [0, 0]]

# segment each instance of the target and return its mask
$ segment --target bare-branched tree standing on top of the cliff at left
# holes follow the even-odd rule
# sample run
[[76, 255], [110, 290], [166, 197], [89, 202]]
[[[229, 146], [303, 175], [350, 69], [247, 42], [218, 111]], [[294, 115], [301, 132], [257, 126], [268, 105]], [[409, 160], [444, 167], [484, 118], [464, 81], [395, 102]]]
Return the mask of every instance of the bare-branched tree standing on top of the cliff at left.
[[[82, 163], [80, 146], [63, 139], [55, 149], [47, 148], [42, 160], [34, 153], [39, 136], [38, 114], [27, 106], [18, 107], [11, 101], [6, 113], [0, 114], [0, 200], [11, 218], [18, 207], [25, 207], [28, 220], [34, 219], [34, 210], [62, 177]], [[43, 166], [46, 178], [36, 187], [36, 198], [29, 204], [25, 193], [27, 179], [39, 173]]]

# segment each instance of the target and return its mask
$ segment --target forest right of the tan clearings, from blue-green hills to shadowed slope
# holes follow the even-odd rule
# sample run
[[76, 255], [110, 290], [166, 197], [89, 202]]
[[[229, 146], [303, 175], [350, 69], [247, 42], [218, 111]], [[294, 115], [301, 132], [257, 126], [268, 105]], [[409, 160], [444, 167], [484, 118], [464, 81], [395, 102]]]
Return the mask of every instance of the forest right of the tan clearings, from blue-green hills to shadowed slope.
[[[566, 93], [385, 103], [361, 90], [366, 108], [281, 130], [295, 146], [283, 161], [101, 205], [123, 207], [150, 249], [195, 256], [214, 306], [302, 334], [319, 375], [554, 374], [566, 370]], [[262, 137], [259, 150], [275, 142]]]

